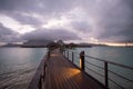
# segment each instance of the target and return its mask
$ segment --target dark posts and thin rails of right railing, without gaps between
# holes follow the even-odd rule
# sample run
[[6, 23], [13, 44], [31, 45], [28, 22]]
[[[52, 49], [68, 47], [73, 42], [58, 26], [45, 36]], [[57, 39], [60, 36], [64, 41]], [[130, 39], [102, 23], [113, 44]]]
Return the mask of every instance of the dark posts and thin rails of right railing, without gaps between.
[[[64, 51], [69, 51], [69, 50], [64, 50]], [[117, 66], [117, 67], [121, 67], [121, 68], [126, 68], [126, 69], [130, 69], [130, 70], [133, 70], [133, 67], [129, 67], [129, 66], [124, 66], [124, 65], [121, 65], [121, 63], [112, 62], [112, 61], [109, 61], [109, 60], [95, 58], [95, 57], [92, 57], [92, 56], [86, 56], [86, 55], [84, 55], [83, 51], [81, 51], [81, 53], [73, 52], [73, 51], [71, 51], [71, 52], [72, 52], [72, 62], [73, 62], [73, 63], [74, 63], [74, 61], [73, 61], [73, 59], [74, 59], [74, 57], [73, 57], [74, 53], [80, 55], [79, 60], [82, 60], [82, 59], [83, 59], [83, 60], [80, 62], [80, 65], [82, 63], [81, 70], [84, 70], [85, 68], [88, 68], [88, 67], [85, 67], [85, 65], [84, 65], [85, 57], [104, 62], [104, 67], [103, 67], [103, 68], [102, 68], [102, 67], [99, 67], [99, 66], [95, 66], [95, 65], [93, 65], [93, 63], [91, 63], [91, 65], [93, 65], [93, 66], [95, 66], [95, 67], [98, 67], [98, 68], [104, 69], [104, 76], [103, 76], [103, 77], [104, 77], [104, 85], [105, 85], [106, 89], [109, 89], [109, 80], [111, 80], [112, 82], [114, 82], [115, 85], [117, 85], [120, 88], [123, 88], [123, 87], [120, 86], [117, 82], [115, 82], [115, 81], [113, 81], [112, 79], [109, 78], [109, 72], [112, 72], [113, 75], [115, 75], [115, 76], [117, 76], [117, 77], [120, 77], [120, 78], [122, 78], [122, 79], [125, 79], [125, 80], [127, 80], [127, 81], [133, 82], [133, 80], [127, 79], [127, 78], [125, 78], [125, 77], [123, 77], [123, 76], [121, 76], [121, 75], [117, 75], [117, 73], [109, 70], [109, 69], [108, 69], [108, 67], [109, 67], [108, 65], [110, 63], [110, 65], [114, 65], [114, 66]], [[83, 52], [83, 53], [82, 53], [82, 52]], [[66, 53], [66, 52], [64, 52], [64, 56], [65, 56], [65, 53]], [[68, 58], [68, 59], [69, 59], [69, 58]], [[86, 63], [89, 63], [89, 61], [86, 61]], [[90, 69], [90, 68], [89, 68], [89, 69]], [[92, 71], [93, 71], [93, 70], [92, 70]], [[95, 72], [95, 71], [94, 71], [94, 72]], [[98, 72], [96, 72], [96, 73], [98, 73]], [[98, 75], [99, 75], [99, 73], [98, 73]]]

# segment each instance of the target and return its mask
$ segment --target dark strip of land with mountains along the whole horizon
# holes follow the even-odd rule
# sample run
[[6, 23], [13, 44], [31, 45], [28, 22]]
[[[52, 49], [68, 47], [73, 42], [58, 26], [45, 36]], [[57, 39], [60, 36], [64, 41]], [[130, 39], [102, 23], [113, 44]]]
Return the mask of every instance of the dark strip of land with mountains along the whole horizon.
[[[86, 43], [86, 42], [81, 42], [81, 43], [74, 43], [74, 42], [64, 43], [62, 40], [58, 40], [57, 42], [50, 41], [50, 40], [28, 40], [28, 41], [23, 42], [22, 44], [7, 43], [7, 44], [0, 46], [0, 47], [47, 48], [49, 46], [52, 46], [52, 47], [63, 46], [65, 48], [109, 47], [108, 44], [103, 44], [103, 43], [98, 43], [98, 44], [96, 43]], [[131, 47], [131, 46], [127, 46], [127, 47]]]

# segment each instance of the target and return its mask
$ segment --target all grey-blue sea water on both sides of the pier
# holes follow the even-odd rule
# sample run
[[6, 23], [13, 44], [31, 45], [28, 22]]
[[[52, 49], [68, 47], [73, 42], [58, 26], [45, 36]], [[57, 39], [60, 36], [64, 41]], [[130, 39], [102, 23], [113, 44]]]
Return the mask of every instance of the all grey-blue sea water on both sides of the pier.
[[[124, 47], [92, 47], [92, 48], [76, 48], [74, 62], [79, 66], [78, 52], [84, 50], [85, 55], [101, 58], [104, 60], [126, 65], [133, 67], [133, 48]], [[0, 89], [27, 89], [32, 79], [41, 59], [45, 55], [45, 48], [0, 48]], [[71, 58], [71, 56], [70, 56]], [[103, 67], [104, 63], [94, 59], [85, 58], [85, 61]], [[85, 63], [89, 68], [103, 75], [104, 71]], [[111, 71], [117, 72], [131, 80], [133, 80], [133, 71], [109, 65]], [[91, 76], [104, 83], [104, 78], [85, 69]], [[110, 73], [109, 77], [120, 85], [124, 85], [126, 89], [133, 89], [133, 83], [121, 80], [116, 76]], [[121, 89], [116, 85], [109, 82], [111, 89]]]

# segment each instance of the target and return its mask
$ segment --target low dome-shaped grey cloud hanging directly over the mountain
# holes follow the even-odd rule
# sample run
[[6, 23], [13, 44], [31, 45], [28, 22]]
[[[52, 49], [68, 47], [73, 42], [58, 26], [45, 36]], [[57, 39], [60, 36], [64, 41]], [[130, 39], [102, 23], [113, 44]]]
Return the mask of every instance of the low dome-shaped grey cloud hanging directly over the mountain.
[[41, 29], [22, 36], [24, 40], [81, 40], [74, 32], [64, 29]]

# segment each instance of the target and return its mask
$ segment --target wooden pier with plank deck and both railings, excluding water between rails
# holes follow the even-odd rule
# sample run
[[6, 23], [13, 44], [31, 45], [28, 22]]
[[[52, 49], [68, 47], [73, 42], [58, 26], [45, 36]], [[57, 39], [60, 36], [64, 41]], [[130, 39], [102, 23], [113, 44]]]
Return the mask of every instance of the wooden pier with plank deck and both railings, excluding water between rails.
[[[127, 66], [114, 63], [111, 61], [105, 61], [99, 58], [85, 56], [84, 51], [80, 53], [81, 67], [78, 67], [76, 65], [73, 63], [73, 58], [74, 58], [73, 52], [72, 52], [72, 60], [70, 61], [68, 59], [69, 51], [64, 51], [64, 56], [60, 51], [61, 50], [59, 49], [54, 49], [48, 52], [48, 55], [43, 58], [39, 68], [37, 69], [37, 72], [34, 73], [34, 77], [31, 80], [28, 89], [109, 89], [109, 80], [111, 80], [116, 86], [119, 86], [120, 89], [124, 89], [117, 82], [113, 81], [112, 79], [108, 77], [109, 71], [126, 81], [133, 82], [131, 79], [127, 79], [121, 75], [117, 75], [109, 70], [108, 63], [119, 66], [122, 68], [127, 68], [130, 70], [133, 70], [132, 67], [127, 67]], [[84, 57], [89, 57], [89, 58], [104, 62], [104, 68], [93, 65], [98, 68], [104, 69], [104, 76], [103, 76], [104, 85], [98, 81], [92, 76], [90, 76], [89, 72], [88, 73], [85, 72]], [[90, 69], [90, 71], [93, 71], [99, 75], [99, 72], [94, 70]]]

